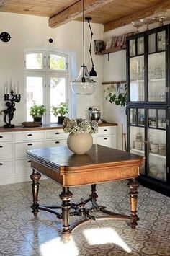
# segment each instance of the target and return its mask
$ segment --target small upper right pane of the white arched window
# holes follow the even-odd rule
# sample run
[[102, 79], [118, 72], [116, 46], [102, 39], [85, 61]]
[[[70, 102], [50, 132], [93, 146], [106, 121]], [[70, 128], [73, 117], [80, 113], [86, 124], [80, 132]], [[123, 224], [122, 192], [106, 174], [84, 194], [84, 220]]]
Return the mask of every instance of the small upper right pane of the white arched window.
[[66, 57], [50, 54], [50, 69], [66, 70]]

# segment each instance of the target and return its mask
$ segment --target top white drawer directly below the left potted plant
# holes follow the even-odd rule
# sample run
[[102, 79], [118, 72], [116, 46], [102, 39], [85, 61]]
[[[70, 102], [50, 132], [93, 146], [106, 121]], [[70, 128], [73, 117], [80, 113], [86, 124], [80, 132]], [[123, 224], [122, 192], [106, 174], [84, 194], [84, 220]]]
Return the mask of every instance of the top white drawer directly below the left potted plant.
[[44, 139], [44, 132], [43, 131], [28, 131], [24, 133], [15, 133], [15, 141], [37, 141]]

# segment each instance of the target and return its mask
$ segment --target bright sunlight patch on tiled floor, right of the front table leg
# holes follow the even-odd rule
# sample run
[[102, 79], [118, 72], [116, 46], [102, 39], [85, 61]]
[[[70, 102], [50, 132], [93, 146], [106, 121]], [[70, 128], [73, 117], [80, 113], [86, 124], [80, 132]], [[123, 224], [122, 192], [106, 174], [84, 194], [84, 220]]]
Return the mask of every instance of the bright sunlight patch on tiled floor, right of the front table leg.
[[83, 233], [90, 245], [112, 243], [119, 245], [128, 253], [131, 252], [128, 244], [112, 228], [85, 229]]

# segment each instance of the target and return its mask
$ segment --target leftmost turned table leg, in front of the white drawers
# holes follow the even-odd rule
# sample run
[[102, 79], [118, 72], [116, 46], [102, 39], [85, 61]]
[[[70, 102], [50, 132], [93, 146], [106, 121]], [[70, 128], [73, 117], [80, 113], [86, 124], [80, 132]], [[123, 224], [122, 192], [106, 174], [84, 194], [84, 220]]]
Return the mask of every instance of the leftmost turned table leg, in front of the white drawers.
[[40, 173], [35, 171], [35, 169], [32, 170], [32, 174], [30, 175], [30, 178], [32, 180], [32, 195], [33, 195], [33, 204], [31, 206], [32, 213], [34, 213], [34, 216], [37, 217], [37, 213], [39, 212], [37, 203], [38, 200], [38, 190], [39, 190], [39, 180], [40, 180]]

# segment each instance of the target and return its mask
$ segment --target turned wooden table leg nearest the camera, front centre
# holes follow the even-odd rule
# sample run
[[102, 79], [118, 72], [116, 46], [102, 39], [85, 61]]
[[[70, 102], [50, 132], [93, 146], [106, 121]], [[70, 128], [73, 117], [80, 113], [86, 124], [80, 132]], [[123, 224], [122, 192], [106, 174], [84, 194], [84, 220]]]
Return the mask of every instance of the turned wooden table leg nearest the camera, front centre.
[[68, 233], [71, 233], [69, 219], [70, 219], [70, 210], [71, 210], [70, 200], [73, 196], [73, 193], [71, 193], [71, 191], [69, 190], [69, 187], [63, 187], [63, 191], [59, 196], [63, 202], [61, 204], [62, 219], [63, 219], [62, 234], [68, 234]]

